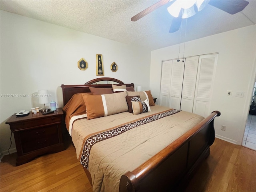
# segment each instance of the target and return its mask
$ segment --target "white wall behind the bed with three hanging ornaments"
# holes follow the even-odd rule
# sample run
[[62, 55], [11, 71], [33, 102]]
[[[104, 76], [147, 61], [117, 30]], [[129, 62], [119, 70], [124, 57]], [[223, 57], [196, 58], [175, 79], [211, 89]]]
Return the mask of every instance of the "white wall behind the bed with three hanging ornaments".
[[[48, 89], [50, 99], [62, 107], [61, 84], [84, 84], [102, 77], [96, 76], [96, 54], [103, 56], [105, 77], [149, 89], [150, 51], [2, 10], [0, 14], [1, 94], [30, 95]], [[81, 58], [88, 62], [85, 71], [77, 66]], [[110, 70], [113, 62], [117, 72]], [[6, 153], [10, 126], [5, 122], [21, 109], [39, 104], [38, 98], [0, 99], [1, 153]], [[15, 150], [14, 142], [11, 150]]]

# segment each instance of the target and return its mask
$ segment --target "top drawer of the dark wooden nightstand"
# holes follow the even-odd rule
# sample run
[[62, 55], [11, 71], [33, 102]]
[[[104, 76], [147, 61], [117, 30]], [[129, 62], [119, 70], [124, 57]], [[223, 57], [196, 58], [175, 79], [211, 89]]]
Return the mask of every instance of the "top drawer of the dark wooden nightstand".
[[36, 127], [36, 126], [52, 124], [52, 123], [57, 123], [57, 122], [61, 122], [61, 116], [41, 118], [41, 119], [35, 119], [32, 121], [14, 123], [14, 124], [12, 124], [11, 128], [12, 128], [12, 130], [18, 130], [18, 129]]

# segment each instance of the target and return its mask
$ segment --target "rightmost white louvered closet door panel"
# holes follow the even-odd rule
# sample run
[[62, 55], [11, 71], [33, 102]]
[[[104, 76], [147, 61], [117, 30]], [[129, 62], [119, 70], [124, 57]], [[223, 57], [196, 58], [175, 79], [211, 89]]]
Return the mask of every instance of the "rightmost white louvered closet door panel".
[[206, 117], [210, 101], [218, 54], [199, 56], [193, 113]]

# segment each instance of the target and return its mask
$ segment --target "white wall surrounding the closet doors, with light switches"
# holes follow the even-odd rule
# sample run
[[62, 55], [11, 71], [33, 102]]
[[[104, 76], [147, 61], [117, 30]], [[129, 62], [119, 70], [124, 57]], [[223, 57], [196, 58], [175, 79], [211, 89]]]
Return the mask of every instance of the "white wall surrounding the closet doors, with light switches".
[[[175, 45], [151, 53], [150, 89], [158, 98], [162, 60], [178, 58], [178, 51], [179, 45]], [[256, 75], [256, 25], [193, 40], [185, 45], [185, 57], [216, 52], [219, 55], [210, 106], [211, 111], [221, 112], [215, 119], [216, 136], [242, 144]], [[227, 96], [227, 90], [233, 91], [231, 97]], [[235, 97], [236, 92], [244, 92], [244, 98]], [[220, 130], [221, 125], [226, 125], [226, 131]]]

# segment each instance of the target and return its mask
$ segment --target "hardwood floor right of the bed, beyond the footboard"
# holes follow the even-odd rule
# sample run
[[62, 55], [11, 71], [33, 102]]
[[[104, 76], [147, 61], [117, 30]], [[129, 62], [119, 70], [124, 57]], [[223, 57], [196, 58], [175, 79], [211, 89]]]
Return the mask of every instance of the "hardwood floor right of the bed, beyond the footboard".
[[256, 151], [218, 138], [185, 192], [256, 192]]

